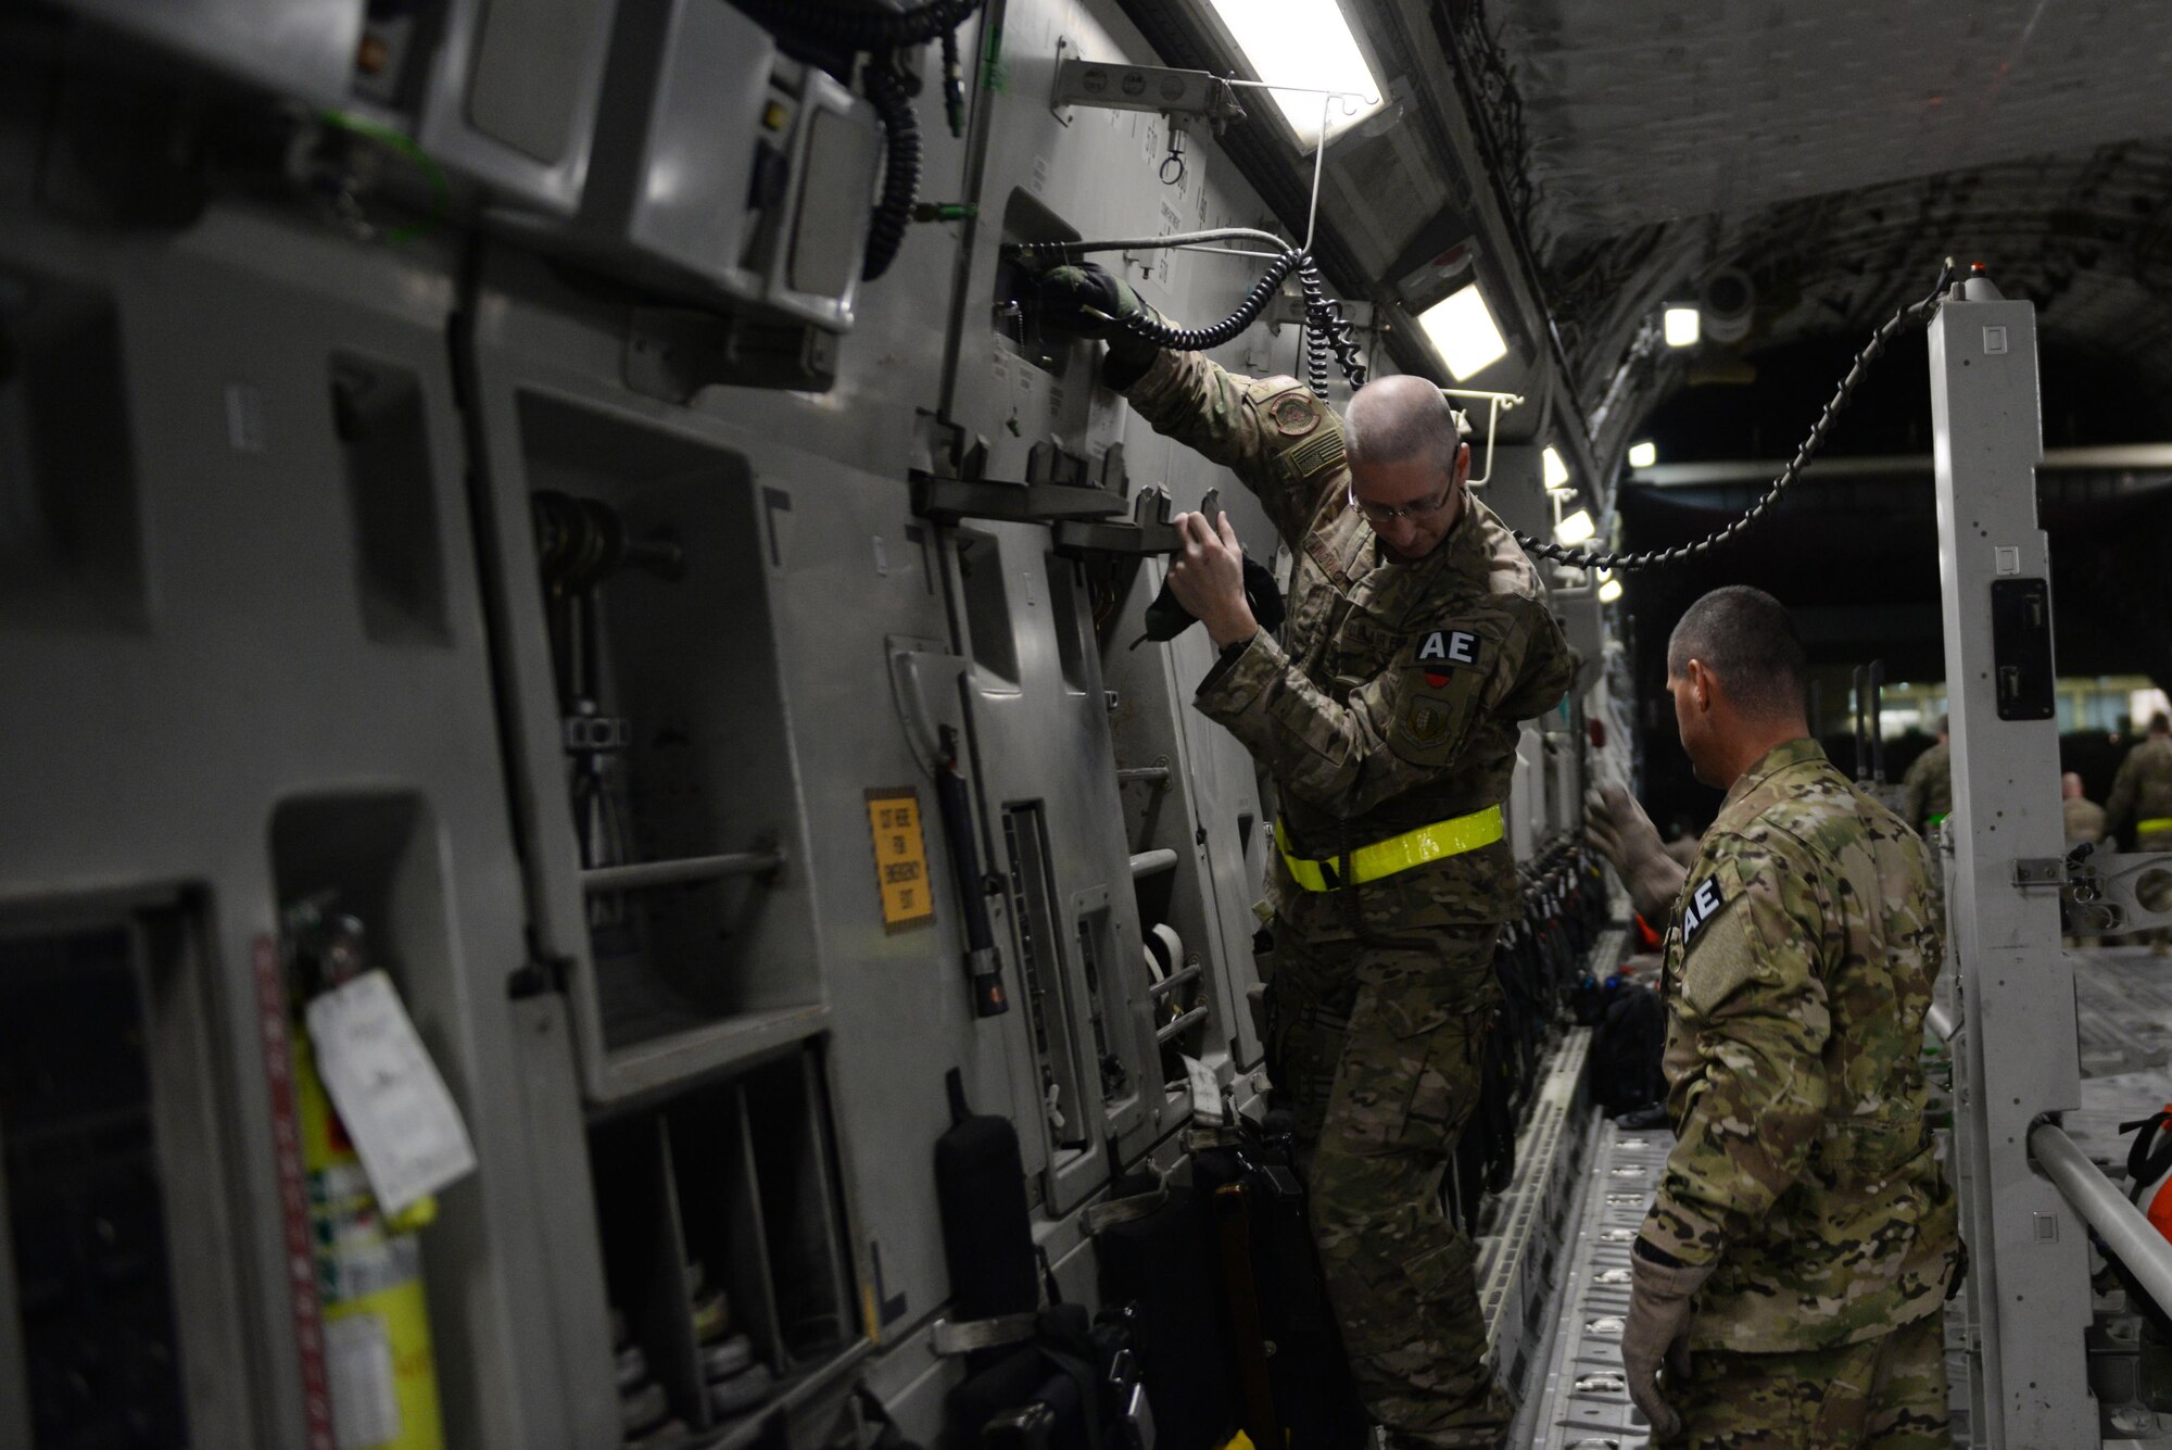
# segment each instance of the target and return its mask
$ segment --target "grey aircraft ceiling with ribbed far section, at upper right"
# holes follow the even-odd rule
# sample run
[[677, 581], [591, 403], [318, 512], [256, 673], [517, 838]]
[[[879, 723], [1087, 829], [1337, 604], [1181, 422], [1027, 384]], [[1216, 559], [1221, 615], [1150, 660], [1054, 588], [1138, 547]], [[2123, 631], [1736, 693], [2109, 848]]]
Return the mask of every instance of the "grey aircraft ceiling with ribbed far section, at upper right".
[[1944, 252], [2172, 382], [2172, 7], [1451, 9], [1586, 395], [1722, 265], [1757, 284], [1755, 349], [1874, 326]]

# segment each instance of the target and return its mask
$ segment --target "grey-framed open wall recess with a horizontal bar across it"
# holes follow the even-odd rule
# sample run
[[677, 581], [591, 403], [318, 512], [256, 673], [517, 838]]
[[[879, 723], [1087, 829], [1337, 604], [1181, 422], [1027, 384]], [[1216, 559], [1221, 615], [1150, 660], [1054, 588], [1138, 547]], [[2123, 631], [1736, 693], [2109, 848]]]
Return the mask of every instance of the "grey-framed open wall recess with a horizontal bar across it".
[[[589, 1094], [626, 1101], [823, 1025], [806, 810], [773, 636], [791, 499], [756, 475], [745, 436], [623, 389], [621, 308], [582, 300], [504, 250], [491, 254], [476, 313], [473, 408], [497, 560], [500, 690], [517, 721], [515, 810], [532, 842], [534, 929], [547, 953], [571, 964]], [[632, 801], [636, 818], [654, 821], [647, 836], [636, 827], [632, 857], [784, 853], [773, 879], [715, 907], [719, 933], [725, 916], [745, 912], [723, 975], [689, 966], [671, 979], [673, 968], [656, 959], [628, 972], [595, 962], [530, 517], [543, 488], [599, 499], [630, 532], [658, 530], [684, 549], [684, 580], [630, 569], [606, 584], [606, 675], [623, 697], [610, 708], [628, 708], [636, 740], [675, 742], [669, 760], [656, 747], [654, 788]], [[641, 764], [630, 755], [628, 773]], [[652, 985], [658, 999], [671, 990], [695, 999], [693, 1009], [641, 996]]]

